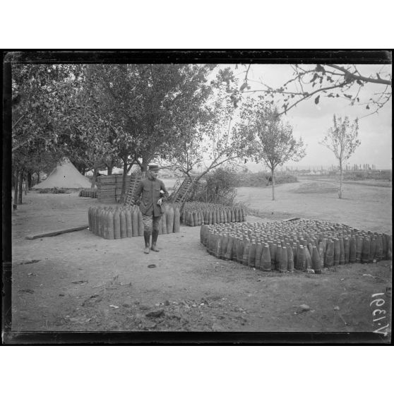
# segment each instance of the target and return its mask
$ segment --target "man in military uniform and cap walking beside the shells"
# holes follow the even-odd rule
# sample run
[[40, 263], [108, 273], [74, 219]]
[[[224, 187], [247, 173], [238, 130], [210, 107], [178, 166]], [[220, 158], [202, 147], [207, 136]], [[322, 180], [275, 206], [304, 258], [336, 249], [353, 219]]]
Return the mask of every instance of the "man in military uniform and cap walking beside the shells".
[[[159, 221], [165, 208], [162, 205], [163, 198], [168, 198], [168, 191], [163, 181], [157, 179], [160, 167], [155, 163], [148, 165], [148, 177], [142, 179], [136, 190], [141, 213], [143, 214], [143, 237], [145, 239], [145, 251], [149, 253], [150, 234], [152, 234], [152, 246], [150, 250], [159, 251], [156, 246], [159, 236]], [[141, 197], [142, 195], [142, 197]]]

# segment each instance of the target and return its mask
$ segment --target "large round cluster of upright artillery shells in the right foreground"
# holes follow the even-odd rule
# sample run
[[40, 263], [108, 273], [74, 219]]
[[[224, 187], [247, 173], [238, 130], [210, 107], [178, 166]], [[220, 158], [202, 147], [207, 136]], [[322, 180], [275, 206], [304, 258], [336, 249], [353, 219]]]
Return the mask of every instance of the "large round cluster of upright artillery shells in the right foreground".
[[391, 235], [319, 220], [205, 224], [201, 243], [217, 258], [280, 272], [320, 274], [333, 265], [372, 263], [392, 256]]

